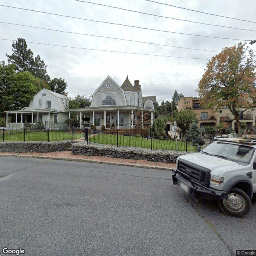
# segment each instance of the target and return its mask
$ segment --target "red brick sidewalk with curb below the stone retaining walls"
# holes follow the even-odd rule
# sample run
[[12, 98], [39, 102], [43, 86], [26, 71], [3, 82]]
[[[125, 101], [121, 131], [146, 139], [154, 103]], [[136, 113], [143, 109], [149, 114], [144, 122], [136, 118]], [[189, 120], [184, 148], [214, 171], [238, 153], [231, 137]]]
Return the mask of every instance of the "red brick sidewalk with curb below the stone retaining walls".
[[49, 153], [0, 152], [0, 156], [46, 158], [46, 159], [56, 159], [56, 160], [92, 162], [92, 163], [98, 163], [98, 164], [116, 164], [116, 165], [124, 165], [124, 166], [134, 166], [138, 168], [151, 168], [151, 169], [161, 169], [161, 170], [170, 170], [170, 171], [172, 170], [172, 168], [176, 166], [176, 163], [150, 162], [146, 160], [112, 158], [107, 156], [80, 156], [80, 155], [71, 154], [71, 151], [49, 152]]

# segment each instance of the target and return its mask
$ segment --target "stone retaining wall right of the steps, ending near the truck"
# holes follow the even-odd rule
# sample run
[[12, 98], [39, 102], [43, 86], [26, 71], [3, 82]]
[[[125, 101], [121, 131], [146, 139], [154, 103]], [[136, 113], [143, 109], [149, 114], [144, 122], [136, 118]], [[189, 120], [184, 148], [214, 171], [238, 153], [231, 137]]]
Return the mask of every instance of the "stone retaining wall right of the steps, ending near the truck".
[[[94, 145], [81, 145], [76, 143], [72, 146], [72, 154], [85, 155], [85, 156], [109, 156], [113, 158], [125, 158], [125, 159], [142, 159], [152, 162], [176, 162], [178, 158], [177, 154], [158, 153], [164, 150], [153, 150], [151, 152], [139, 152], [139, 150], [131, 150], [130, 148], [112, 148], [94, 146]], [[145, 149], [146, 150], [146, 149]], [[149, 150], [150, 151], [150, 150]], [[167, 150], [166, 150], [167, 152]]]

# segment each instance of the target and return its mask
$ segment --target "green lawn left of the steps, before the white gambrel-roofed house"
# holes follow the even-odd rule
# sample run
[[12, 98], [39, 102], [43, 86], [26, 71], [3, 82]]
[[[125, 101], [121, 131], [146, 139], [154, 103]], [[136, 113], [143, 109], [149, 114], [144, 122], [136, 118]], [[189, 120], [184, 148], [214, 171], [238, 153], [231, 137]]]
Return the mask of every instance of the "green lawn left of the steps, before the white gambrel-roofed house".
[[[74, 133], [73, 139], [82, 138], [84, 134]], [[46, 131], [32, 131], [25, 133], [26, 141], [48, 141], [48, 130]], [[67, 131], [50, 131], [49, 141], [54, 140], [71, 140], [71, 132]], [[3, 134], [0, 134], [0, 141], [3, 141]], [[24, 132], [20, 131], [6, 131], [4, 134], [4, 141], [24, 141]]]

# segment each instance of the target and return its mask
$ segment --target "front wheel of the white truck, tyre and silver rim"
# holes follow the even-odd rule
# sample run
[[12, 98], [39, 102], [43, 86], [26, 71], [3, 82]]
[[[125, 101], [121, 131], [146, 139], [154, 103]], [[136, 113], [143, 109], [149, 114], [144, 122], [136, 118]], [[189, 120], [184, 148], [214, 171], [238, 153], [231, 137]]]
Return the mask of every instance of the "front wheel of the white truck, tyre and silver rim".
[[231, 216], [242, 217], [248, 214], [251, 208], [249, 196], [240, 188], [232, 188], [228, 196], [219, 201], [220, 209]]

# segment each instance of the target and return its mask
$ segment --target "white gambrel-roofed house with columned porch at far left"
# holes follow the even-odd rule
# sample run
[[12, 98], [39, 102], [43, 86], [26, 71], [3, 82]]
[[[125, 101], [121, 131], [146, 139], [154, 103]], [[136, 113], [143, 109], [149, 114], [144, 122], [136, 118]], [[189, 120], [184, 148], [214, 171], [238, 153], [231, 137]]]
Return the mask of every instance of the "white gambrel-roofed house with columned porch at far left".
[[43, 88], [34, 96], [28, 107], [5, 111], [6, 127], [10, 126], [8, 116], [12, 116], [12, 128], [23, 128], [24, 124], [38, 120], [46, 124], [46, 128], [55, 127], [59, 122], [63, 123], [68, 119], [66, 108], [68, 108], [67, 96]]

